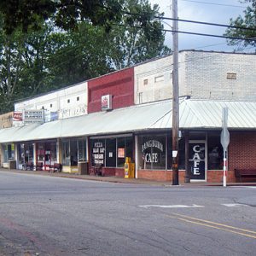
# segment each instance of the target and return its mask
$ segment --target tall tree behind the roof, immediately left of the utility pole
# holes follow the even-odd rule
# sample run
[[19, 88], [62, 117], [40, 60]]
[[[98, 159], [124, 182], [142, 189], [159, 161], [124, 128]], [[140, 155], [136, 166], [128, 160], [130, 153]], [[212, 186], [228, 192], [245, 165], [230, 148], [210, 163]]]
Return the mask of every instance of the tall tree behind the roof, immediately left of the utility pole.
[[[159, 6], [151, 9], [148, 0], [127, 0], [127, 15], [106, 35], [108, 57], [113, 67], [121, 69], [171, 52], [165, 45], [165, 33], [160, 19]], [[137, 19], [134, 19], [137, 16]], [[143, 20], [152, 20], [144, 22]], [[142, 25], [143, 24], [143, 25]], [[143, 28], [142, 28], [143, 26]]]

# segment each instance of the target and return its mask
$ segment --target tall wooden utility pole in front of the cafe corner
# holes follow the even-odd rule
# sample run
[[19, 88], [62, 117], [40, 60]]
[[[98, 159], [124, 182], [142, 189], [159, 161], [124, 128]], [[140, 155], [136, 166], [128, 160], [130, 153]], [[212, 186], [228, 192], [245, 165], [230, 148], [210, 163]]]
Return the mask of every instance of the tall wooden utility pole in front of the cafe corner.
[[172, 0], [172, 185], [178, 185], [178, 35], [177, 0]]

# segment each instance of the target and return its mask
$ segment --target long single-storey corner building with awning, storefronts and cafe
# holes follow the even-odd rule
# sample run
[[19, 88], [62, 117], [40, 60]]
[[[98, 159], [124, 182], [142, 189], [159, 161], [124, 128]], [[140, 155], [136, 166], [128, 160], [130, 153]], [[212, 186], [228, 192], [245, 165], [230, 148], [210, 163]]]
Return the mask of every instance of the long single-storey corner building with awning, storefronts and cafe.
[[[255, 168], [255, 67], [255, 55], [180, 52], [181, 182], [221, 181], [223, 107], [230, 108], [228, 181], [236, 181], [235, 168]], [[135, 177], [172, 180], [172, 56], [15, 104], [15, 112], [42, 108], [49, 114], [43, 125], [0, 131], [2, 166], [40, 162], [47, 171], [61, 163], [63, 172], [78, 172], [88, 162], [91, 173], [100, 165], [103, 175], [124, 177], [129, 158]], [[58, 119], [47, 122], [53, 113]]]

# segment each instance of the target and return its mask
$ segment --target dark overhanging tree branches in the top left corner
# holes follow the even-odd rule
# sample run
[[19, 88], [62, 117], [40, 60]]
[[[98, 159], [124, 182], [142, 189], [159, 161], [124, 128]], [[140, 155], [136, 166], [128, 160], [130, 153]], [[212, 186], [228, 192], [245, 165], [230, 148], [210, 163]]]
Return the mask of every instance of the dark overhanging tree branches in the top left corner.
[[15, 28], [27, 32], [38, 29], [38, 20], [55, 21], [55, 26], [65, 30], [74, 28], [78, 20], [90, 20], [93, 25], [109, 26], [121, 16], [122, 0], [1, 0], [4, 30], [11, 34]]

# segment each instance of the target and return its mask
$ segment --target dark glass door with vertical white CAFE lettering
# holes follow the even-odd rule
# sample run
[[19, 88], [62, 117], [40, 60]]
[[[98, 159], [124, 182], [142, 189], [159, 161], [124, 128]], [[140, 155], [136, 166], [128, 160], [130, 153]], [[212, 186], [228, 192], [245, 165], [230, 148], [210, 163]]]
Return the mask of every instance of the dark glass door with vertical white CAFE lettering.
[[189, 141], [190, 179], [206, 181], [206, 142]]

